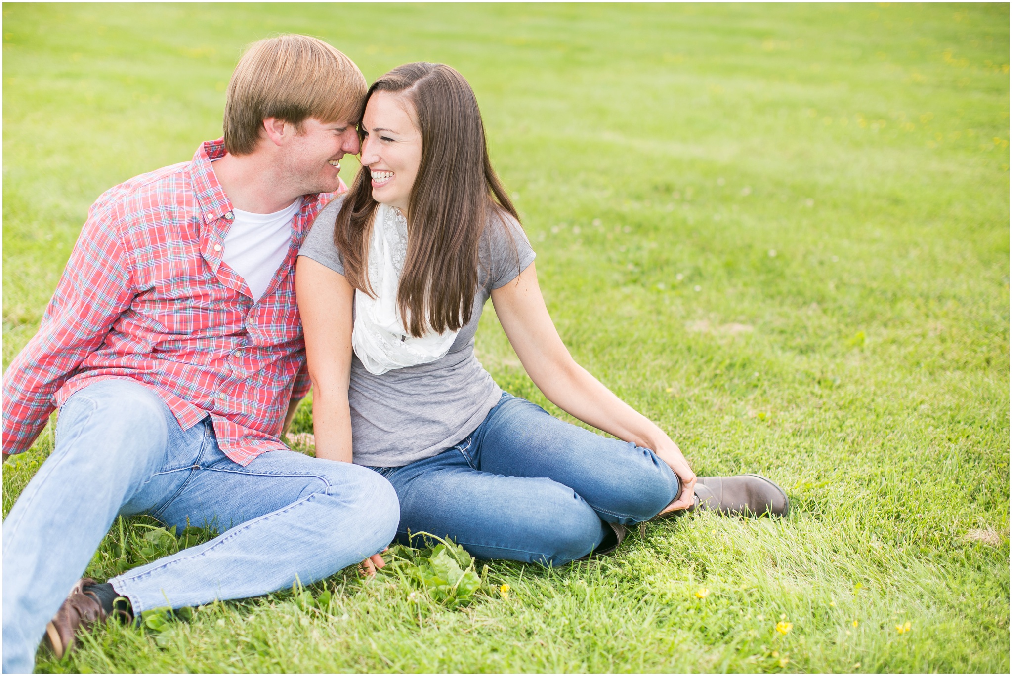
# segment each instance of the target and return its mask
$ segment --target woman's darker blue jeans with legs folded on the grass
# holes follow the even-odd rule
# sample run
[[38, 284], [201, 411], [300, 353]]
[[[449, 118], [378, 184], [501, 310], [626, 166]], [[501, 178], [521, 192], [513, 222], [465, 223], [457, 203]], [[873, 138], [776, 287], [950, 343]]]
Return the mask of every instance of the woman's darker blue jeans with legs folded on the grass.
[[480, 559], [561, 566], [597, 547], [604, 523], [656, 516], [678, 478], [648, 448], [594, 434], [503, 394], [478, 429], [438, 455], [373, 468], [401, 500], [398, 539], [448, 535]]

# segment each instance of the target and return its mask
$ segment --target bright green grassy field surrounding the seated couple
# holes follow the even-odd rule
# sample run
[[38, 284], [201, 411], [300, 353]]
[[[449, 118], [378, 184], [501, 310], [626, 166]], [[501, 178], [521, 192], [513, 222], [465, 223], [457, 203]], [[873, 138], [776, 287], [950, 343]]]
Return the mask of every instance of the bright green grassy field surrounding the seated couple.
[[[495, 563], [509, 591], [465, 608], [346, 571], [37, 668], [1007, 673], [1008, 11], [5, 5], [4, 364], [89, 204], [220, 136], [244, 45], [308, 32], [369, 79], [462, 72], [578, 361], [700, 475], [759, 472], [794, 505]], [[483, 363], [549, 406], [482, 321]], [[5, 514], [51, 447], [4, 467]], [[90, 573], [180, 545], [143, 525]]]

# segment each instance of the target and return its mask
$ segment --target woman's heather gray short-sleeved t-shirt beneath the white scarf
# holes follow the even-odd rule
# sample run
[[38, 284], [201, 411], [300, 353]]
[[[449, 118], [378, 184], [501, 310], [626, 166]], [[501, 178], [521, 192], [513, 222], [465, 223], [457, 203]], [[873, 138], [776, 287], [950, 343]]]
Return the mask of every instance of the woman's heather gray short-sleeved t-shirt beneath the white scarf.
[[[317, 217], [299, 255], [344, 274], [334, 245], [342, 199]], [[523, 229], [511, 217], [490, 219], [482, 235], [478, 288], [469, 321], [442, 358], [374, 375], [351, 356], [352, 456], [356, 464], [402, 467], [453, 446], [485, 420], [502, 391], [475, 357], [475, 332], [493, 288], [516, 278], [534, 260]], [[349, 317], [348, 321], [352, 321]]]

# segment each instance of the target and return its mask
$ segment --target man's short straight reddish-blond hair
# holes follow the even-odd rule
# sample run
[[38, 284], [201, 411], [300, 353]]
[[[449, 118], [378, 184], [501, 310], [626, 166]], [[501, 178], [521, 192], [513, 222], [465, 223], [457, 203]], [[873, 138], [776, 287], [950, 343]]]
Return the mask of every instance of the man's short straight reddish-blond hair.
[[236, 66], [225, 101], [225, 148], [249, 155], [267, 117], [301, 129], [309, 117], [357, 122], [365, 77], [333, 47], [309, 35], [253, 43]]

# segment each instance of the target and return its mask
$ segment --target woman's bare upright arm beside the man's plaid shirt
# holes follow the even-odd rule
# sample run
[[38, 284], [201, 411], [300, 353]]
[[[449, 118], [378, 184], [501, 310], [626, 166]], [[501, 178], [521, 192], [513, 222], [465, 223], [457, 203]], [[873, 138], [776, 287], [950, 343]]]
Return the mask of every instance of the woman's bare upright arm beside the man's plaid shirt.
[[313, 382], [317, 457], [351, 461], [351, 304], [355, 289], [343, 274], [312, 258], [296, 265], [296, 294]]

